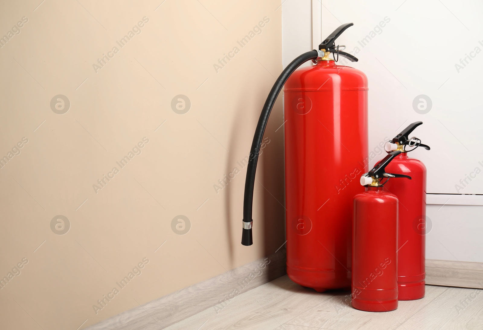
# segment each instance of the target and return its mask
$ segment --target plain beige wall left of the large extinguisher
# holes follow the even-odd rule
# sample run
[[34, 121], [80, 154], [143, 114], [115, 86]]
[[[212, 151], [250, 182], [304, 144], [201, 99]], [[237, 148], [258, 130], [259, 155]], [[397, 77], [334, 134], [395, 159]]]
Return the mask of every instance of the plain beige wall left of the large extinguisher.
[[[0, 36], [11, 37], [0, 48], [4, 329], [83, 328], [284, 242], [280, 101], [258, 166], [267, 190], [256, 183], [252, 247], [240, 244], [246, 168], [237, 164], [282, 69], [280, 0], [161, 1], [1, 4]], [[134, 28], [120, 47], [143, 17], [141, 33]], [[270, 22], [242, 48], [237, 41], [264, 17]], [[216, 72], [235, 46], [240, 52]], [[57, 95], [70, 102], [64, 114], [52, 110]], [[176, 95], [189, 98], [187, 113], [171, 109]], [[57, 112], [67, 110], [63, 96], [53, 101]], [[124, 156], [132, 158], [121, 167]], [[240, 173], [216, 192], [234, 167]], [[101, 186], [103, 175], [114, 177]], [[191, 223], [187, 234], [172, 229], [178, 215]], [[140, 262], [141, 274], [120, 289]]]

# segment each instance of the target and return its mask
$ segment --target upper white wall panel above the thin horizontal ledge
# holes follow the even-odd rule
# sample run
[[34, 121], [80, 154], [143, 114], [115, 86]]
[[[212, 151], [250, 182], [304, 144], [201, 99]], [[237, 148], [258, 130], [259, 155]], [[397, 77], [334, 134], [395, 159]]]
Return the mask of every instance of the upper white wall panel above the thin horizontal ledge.
[[[323, 1], [322, 8], [326, 34], [341, 22], [354, 23], [339, 41], [357, 53], [355, 67], [369, 78], [369, 146], [423, 121], [414, 135], [432, 150], [412, 155], [426, 164], [427, 192], [482, 194], [483, 174], [474, 173], [466, 187], [460, 179], [476, 167], [483, 173], [483, 54], [470, 53], [477, 46], [483, 50], [483, 23], [477, 15], [483, 3], [341, 0]], [[465, 54], [475, 58], [466, 68], [456, 69]], [[413, 108], [414, 99], [420, 103], [419, 95], [432, 102], [425, 114]], [[463, 189], [457, 190], [456, 184]]]

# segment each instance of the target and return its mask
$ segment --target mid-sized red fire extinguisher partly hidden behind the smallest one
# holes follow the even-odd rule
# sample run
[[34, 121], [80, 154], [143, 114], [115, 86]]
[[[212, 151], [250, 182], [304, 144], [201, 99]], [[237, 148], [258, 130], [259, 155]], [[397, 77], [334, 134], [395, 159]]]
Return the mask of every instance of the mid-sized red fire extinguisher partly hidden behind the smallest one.
[[401, 151], [387, 165], [387, 171], [412, 177], [411, 181], [390, 181], [384, 186], [399, 200], [398, 300], [416, 300], [425, 295], [426, 167], [421, 161], [408, 157], [408, 152], [417, 147], [430, 149], [419, 138], [409, 138], [409, 134], [421, 124], [423, 122], [410, 124], [384, 146], [388, 152]]

